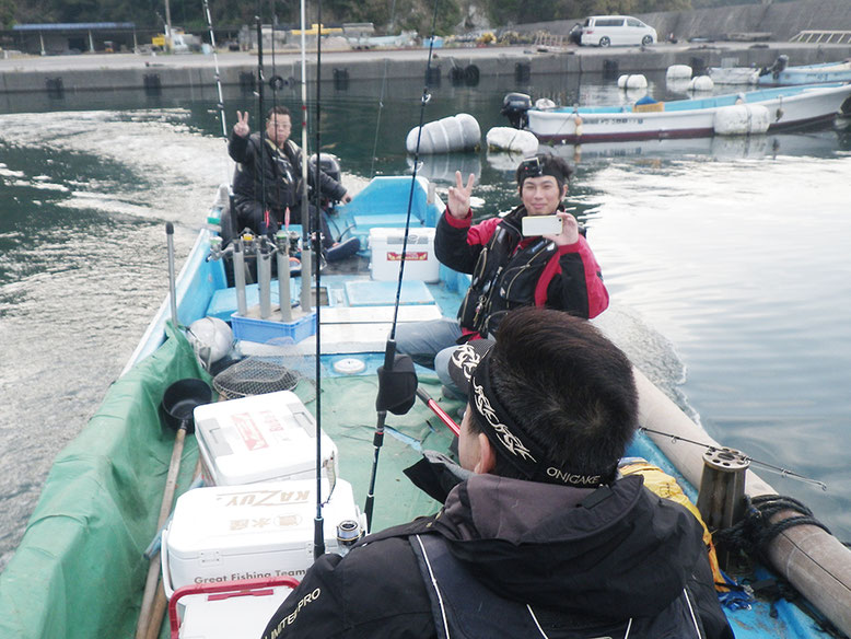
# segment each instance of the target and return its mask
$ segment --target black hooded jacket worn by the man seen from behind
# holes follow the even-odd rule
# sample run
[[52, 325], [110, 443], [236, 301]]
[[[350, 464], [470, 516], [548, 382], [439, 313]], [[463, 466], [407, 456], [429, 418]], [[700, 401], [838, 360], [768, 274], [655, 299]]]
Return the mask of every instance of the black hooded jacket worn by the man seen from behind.
[[477, 619], [481, 592], [504, 597], [520, 614], [532, 609], [550, 639], [617, 638], [627, 627], [631, 639], [733, 637], [700, 524], [646, 490], [641, 477], [595, 492], [475, 475], [436, 515], [370, 535], [343, 558], [319, 558], [264, 639], [444, 637], [433, 584], [415, 551], [418, 537], [431, 535], [445, 542], [463, 579], [485, 586], [479, 595], [446, 589], [450, 603], [467, 613], [452, 637], [512, 636], [508, 623], [494, 635], [488, 618]]

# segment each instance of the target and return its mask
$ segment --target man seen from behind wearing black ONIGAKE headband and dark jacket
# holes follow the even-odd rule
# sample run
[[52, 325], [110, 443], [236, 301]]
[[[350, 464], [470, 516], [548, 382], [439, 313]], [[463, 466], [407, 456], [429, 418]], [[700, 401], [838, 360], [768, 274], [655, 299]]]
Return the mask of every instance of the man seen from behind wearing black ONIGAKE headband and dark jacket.
[[264, 638], [731, 639], [698, 521], [617, 473], [638, 422], [626, 356], [527, 307], [465, 370], [466, 472], [443, 508], [319, 558]]

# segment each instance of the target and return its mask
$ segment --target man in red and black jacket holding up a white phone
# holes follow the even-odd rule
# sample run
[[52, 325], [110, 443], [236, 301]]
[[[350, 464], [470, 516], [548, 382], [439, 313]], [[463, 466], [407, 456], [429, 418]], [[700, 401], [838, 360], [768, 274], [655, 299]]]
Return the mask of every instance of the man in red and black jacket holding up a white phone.
[[[454, 347], [493, 335], [510, 310], [540, 306], [586, 320], [606, 310], [608, 291], [599, 265], [576, 219], [562, 207], [572, 174], [558, 155], [539, 153], [524, 160], [516, 171], [523, 204], [504, 217], [473, 224], [474, 176], [465, 185], [456, 172], [446, 211], [438, 222], [434, 251], [442, 264], [473, 276], [470, 288], [457, 321], [400, 324], [399, 352], [434, 368], [443, 384], [458, 392], [447, 372]], [[524, 235], [523, 219], [537, 216], [557, 216], [560, 232]]]

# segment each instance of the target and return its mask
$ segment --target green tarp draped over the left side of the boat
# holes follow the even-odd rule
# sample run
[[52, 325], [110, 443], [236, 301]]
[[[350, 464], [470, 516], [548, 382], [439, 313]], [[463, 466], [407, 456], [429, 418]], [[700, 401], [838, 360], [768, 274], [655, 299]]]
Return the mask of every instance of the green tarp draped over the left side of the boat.
[[[183, 377], [209, 379], [183, 338], [168, 339], [110, 386], [59, 453], [0, 576], [1, 637], [132, 637], [174, 442], [159, 406]], [[187, 438], [179, 489], [196, 458]]]

